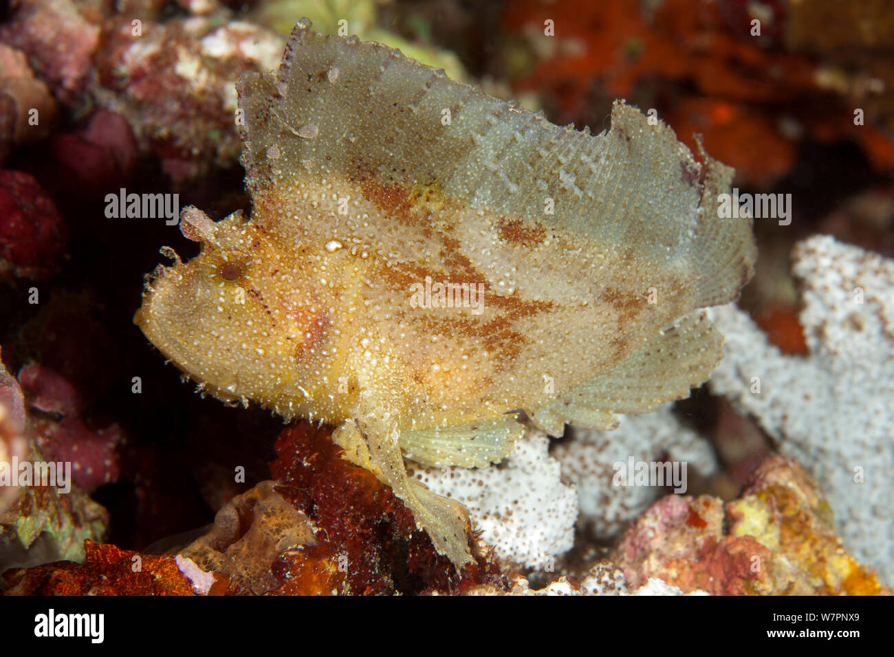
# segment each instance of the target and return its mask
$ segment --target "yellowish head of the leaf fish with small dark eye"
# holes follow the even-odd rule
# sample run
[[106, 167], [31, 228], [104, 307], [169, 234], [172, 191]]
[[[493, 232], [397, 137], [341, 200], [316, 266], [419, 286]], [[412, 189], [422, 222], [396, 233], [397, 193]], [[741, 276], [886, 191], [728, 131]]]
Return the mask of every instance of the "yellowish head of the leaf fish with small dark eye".
[[224, 401], [270, 399], [299, 388], [298, 360], [325, 334], [318, 292], [292, 276], [263, 228], [234, 213], [213, 222], [194, 207], [181, 232], [198, 256], [150, 274], [133, 318], [166, 358]]

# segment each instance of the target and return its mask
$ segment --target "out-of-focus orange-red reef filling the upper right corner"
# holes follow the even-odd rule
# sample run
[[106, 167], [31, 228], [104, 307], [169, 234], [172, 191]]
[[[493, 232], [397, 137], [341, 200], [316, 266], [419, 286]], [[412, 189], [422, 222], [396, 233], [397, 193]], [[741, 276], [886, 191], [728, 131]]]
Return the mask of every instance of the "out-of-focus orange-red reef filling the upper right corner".
[[[852, 139], [877, 171], [890, 173], [894, 138], [879, 108], [890, 107], [886, 62], [894, 39], [890, 30], [864, 29], [874, 21], [889, 24], [890, 4], [861, 4], [845, 13], [834, 0], [823, 2], [821, 13], [814, 13], [814, 3], [810, 9], [784, 3], [801, 9], [777, 11], [782, 4], [757, 11], [757, 3], [735, 0], [524, 0], [504, 13], [518, 35], [507, 55], [510, 74], [517, 90], [555, 99], [563, 121], [597, 124], [617, 97], [654, 107], [690, 147], [694, 132], [704, 135], [705, 149], [735, 167], [741, 184], [779, 181], [809, 139]], [[817, 29], [818, 16], [830, 13], [835, 18]], [[752, 33], [755, 19], [760, 35]], [[555, 38], [544, 35], [547, 20]], [[861, 52], [871, 59], [856, 66], [847, 47], [833, 53], [822, 46], [829, 52], [817, 62], [806, 37], [814, 31], [862, 41], [868, 47]], [[872, 108], [865, 124], [855, 125], [855, 107]]]

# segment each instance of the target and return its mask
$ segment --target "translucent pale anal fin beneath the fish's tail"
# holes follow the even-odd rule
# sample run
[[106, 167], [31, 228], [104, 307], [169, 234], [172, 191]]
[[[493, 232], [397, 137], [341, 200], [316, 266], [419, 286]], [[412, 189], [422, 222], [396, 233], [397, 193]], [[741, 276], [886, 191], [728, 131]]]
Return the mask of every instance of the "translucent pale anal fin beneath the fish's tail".
[[561, 423], [593, 429], [617, 425], [615, 413], [637, 415], [685, 399], [707, 381], [723, 356], [723, 336], [697, 311], [650, 338], [610, 372], [572, 388], [558, 399], [527, 411], [552, 435]]

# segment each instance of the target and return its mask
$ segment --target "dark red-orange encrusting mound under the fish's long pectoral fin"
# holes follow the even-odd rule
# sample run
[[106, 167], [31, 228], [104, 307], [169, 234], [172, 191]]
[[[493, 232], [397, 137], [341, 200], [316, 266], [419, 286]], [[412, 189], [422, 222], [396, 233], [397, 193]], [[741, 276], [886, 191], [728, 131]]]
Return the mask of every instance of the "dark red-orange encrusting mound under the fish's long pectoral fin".
[[342, 457], [331, 433], [299, 422], [276, 441], [270, 469], [277, 490], [320, 527], [322, 540], [281, 560], [276, 571], [284, 581], [274, 593], [461, 593], [503, 585], [489, 549], [476, 549], [475, 563], [458, 574], [391, 489]]

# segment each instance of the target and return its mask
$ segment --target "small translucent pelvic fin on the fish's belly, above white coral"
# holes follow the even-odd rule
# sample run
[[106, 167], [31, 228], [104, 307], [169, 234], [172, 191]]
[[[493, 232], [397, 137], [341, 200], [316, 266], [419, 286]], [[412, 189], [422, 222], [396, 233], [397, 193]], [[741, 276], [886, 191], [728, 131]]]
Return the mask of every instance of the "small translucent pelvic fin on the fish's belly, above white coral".
[[525, 433], [513, 415], [465, 425], [401, 432], [404, 456], [424, 466], [486, 467], [499, 463]]

